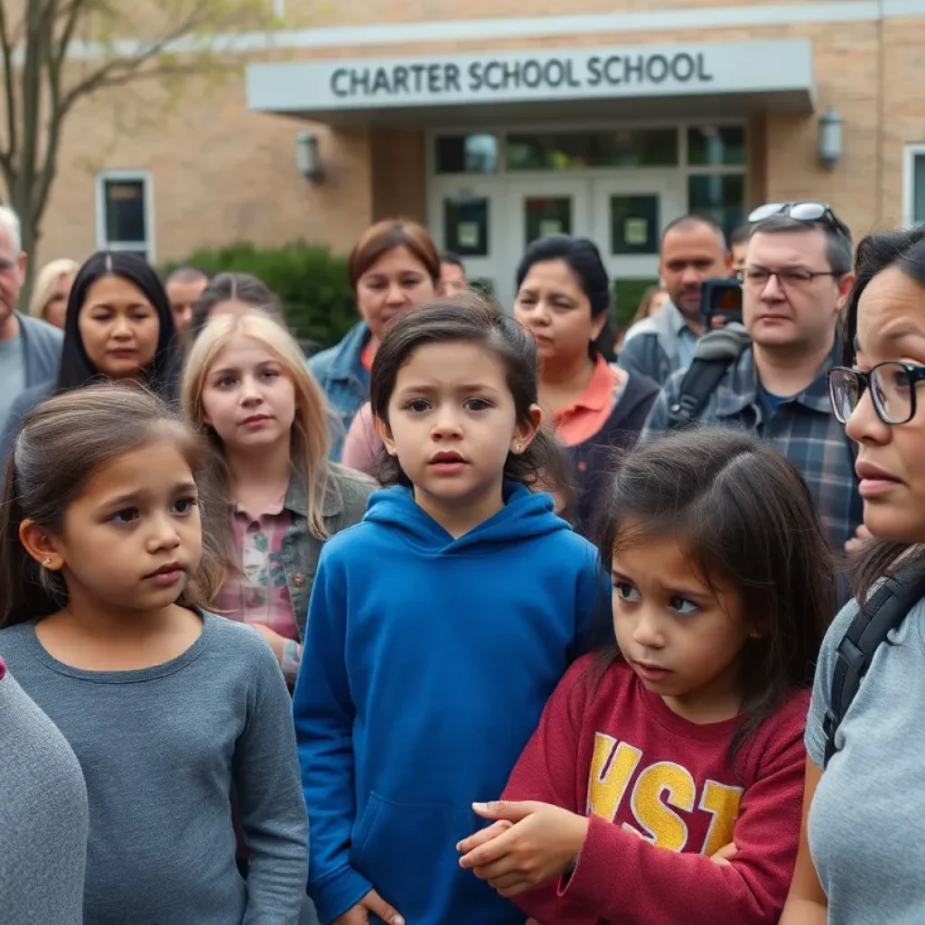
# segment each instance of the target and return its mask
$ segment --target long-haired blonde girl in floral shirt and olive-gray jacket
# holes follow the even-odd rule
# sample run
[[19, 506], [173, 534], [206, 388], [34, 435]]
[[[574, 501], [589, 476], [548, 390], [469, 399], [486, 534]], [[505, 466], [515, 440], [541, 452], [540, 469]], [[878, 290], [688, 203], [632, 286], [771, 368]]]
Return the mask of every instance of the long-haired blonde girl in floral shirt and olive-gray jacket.
[[215, 450], [232, 570], [216, 611], [263, 635], [290, 684], [318, 557], [376, 487], [328, 462], [327, 403], [298, 344], [264, 314], [219, 315], [192, 346], [182, 402]]

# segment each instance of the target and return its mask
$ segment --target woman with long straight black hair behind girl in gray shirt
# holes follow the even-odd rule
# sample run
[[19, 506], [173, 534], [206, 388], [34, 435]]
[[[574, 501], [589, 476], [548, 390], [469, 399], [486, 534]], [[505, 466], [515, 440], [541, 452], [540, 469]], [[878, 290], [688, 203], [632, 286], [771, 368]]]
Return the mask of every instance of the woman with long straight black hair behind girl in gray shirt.
[[173, 401], [181, 364], [170, 302], [160, 278], [136, 253], [100, 251], [80, 267], [68, 296], [57, 381], [27, 388], [10, 410], [0, 460], [19, 422], [53, 392], [92, 382], [137, 382]]

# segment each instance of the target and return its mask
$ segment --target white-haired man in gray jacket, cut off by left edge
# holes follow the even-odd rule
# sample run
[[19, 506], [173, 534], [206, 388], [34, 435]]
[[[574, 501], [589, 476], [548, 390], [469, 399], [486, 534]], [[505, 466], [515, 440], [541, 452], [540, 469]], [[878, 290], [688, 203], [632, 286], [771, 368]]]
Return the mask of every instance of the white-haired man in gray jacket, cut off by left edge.
[[21, 240], [19, 217], [0, 205], [0, 432], [23, 389], [57, 376], [63, 341], [56, 327], [16, 311], [26, 275]]

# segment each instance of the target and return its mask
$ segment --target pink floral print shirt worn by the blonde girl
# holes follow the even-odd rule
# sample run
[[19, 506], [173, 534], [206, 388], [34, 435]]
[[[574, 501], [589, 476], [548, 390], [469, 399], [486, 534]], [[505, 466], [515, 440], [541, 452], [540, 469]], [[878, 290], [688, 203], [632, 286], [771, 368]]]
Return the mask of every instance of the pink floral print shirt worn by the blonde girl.
[[240, 574], [232, 574], [215, 601], [215, 610], [239, 623], [260, 624], [291, 640], [284, 648], [283, 674], [293, 684], [302, 657], [299, 626], [292, 611], [282, 544], [292, 524], [283, 501], [259, 515], [240, 507], [232, 514], [232, 530]]

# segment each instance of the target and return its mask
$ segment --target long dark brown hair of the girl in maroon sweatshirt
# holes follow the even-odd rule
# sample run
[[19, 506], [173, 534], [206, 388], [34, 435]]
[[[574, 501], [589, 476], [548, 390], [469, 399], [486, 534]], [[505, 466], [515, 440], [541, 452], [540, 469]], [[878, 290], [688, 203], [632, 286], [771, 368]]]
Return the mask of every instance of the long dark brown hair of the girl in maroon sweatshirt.
[[602, 561], [643, 536], [677, 536], [708, 585], [722, 578], [741, 595], [760, 635], [742, 651], [734, 758], [789, 691], [812, 684], [837, 608], [833, 558], [806, 482], [758, 439], [697, 427], [629, 452], [600, 508]]

